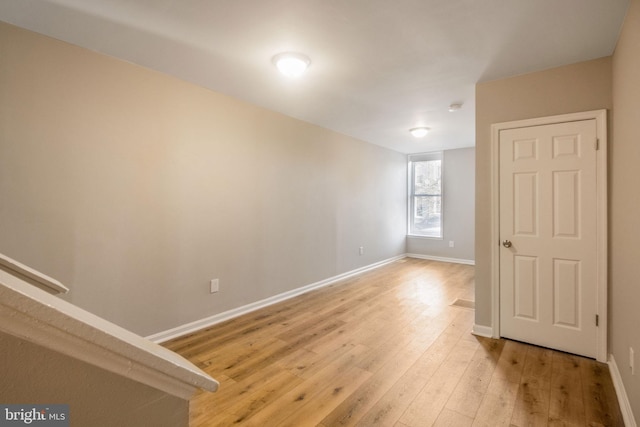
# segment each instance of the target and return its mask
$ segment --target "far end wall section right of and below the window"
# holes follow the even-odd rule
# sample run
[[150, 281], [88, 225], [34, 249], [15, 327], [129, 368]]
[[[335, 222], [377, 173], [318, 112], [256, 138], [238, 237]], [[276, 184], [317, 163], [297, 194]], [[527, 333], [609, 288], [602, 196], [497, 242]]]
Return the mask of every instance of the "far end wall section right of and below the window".
[[[407, 253], [473, 261], [475, 234], [475, 148], [443, 153], [443, 238], [407, 237]], [[454, 247], [449, 247], [449, 242]]]

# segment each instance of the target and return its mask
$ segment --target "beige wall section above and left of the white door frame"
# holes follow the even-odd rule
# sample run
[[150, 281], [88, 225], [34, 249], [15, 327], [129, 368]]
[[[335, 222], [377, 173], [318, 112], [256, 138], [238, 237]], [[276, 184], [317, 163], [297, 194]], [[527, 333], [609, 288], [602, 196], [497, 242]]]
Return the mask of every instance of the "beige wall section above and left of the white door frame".
[[491, 125], [611, 109], [611, 58], [476, 86], [476, 324], [491, 326]]

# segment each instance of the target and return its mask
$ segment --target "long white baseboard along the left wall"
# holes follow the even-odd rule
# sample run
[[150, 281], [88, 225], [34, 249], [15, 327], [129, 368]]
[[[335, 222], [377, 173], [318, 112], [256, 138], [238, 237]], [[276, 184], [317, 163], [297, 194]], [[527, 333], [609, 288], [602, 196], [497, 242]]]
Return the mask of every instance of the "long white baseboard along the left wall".
[[332, 285], [340, 280], [347, 279], [349, 277], [355, 276], [357, 274], [364, 273], [369, 270], [374, 270], [376, 268], [382, 267], [383, 265], [390, 264], [392, 262], [398, 261], [402, 258], [406, 258], [406, 255], [399, 255], [393, 258], [386, 259], [384, 261], [377, 262], [375, 264], [370, 264], [361, 268], [357, 268], [355, 270], [348, 271], [346, 273], [339, 274], [337, 276], [330, 277], [325, 280], [321, 280], [319, 282], [311, 283], [310, 285], [306, 285], [300, 288], [292, 289], [287, 292], [283, 292], [278, 295], [274, 295], [272, 297], [256, 301], [247, 305], [243, 305], [242, 307], [234, 308], [223, 313], [214, 314], [213, 316], [206, 317], [204, 319], [196, 320], [194, 322], [190, 322], [166, 331], [158, 332], [153, 335], [149, 335], [146, 337], [148, 340], [151, 340], [155, 343], [162, 343], [165, 341], [169, 341], [170, 339], [180, 337], [182, 335], [189, 334], [191, 332], [198, 331], [200, 329], [204, 329], [206, 327], [215, 325], [217, 323], [224, 322], [225, 320], [233, 319], [234, 317], [242, 316], [243, 314], [250, 313], [252, 311], [259, 310], [264, 307], [268, 307], [270, 305], [288, 300], [290, 298], [296, 297], [298, 295], [302, 295], [304, 293], [313, 291], [315, 289], [323, 288], [325, 286]]

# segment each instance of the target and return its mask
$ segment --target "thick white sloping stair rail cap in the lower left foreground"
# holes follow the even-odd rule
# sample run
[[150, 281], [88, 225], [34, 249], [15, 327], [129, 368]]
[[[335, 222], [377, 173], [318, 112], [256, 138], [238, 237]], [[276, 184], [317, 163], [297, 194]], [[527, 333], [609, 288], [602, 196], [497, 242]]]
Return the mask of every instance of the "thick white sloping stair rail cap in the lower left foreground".
[[2, 269], [0, 331], [184, 399], [218, 388], [182, 356]]

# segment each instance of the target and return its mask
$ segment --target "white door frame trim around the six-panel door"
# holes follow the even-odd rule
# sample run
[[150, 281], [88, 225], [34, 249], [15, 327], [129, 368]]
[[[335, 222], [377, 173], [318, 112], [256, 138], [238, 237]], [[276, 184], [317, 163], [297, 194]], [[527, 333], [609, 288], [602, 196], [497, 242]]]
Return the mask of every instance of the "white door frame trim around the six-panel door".
[[[493, 338], [500, 338], [500, 132], [507, 129], [575, 122], [596, 121], [596, 300], [599, 323], [596, 359], [607, 362], [607, 110], [585, 111], [550, 117], [516, 120], [491, 125], [491, 323]], [[594, 319], [595, 321], [595, 319]]]

